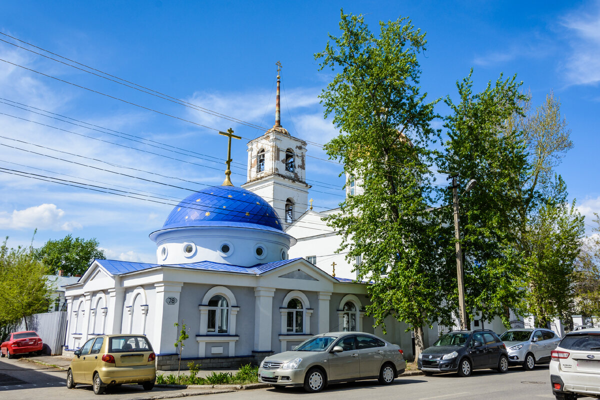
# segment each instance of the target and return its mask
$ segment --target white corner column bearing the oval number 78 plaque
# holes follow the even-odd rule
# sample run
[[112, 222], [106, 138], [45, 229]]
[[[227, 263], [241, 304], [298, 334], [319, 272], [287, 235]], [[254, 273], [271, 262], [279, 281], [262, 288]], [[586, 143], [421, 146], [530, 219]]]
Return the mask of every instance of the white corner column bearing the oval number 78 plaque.
[[[178, 328], [174, 326], [179, 321], [179, 295], [183, 287], [181, 282], [160, 282], [154, 284], [156, 288], [156, 314], [154, 320], [154, 334], [150, 339], [154, 346], [155, 353], [170, 354], [175, 353], [176, 339]], [[167, 304], [167, 299], [175, 298], [175, 302], [170, 301]]]

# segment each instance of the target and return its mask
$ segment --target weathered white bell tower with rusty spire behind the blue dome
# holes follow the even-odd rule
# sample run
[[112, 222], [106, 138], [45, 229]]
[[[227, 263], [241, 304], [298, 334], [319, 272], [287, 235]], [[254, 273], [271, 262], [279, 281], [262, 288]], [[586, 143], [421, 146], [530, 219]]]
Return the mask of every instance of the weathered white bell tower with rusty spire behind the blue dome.
[[275, 125], [248, 142], [248, 181], [242, 188], [265, 199], [287, 228], [307, 209], [306, 142], [281, 126], [281, 63], [277, 62]]

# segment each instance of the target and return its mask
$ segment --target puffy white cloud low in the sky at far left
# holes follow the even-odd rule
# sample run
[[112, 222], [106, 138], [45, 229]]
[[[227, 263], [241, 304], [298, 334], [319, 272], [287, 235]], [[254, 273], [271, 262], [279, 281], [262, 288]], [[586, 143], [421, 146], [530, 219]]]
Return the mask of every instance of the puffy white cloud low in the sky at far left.
[[63, 221], [65, 212], [55, 204], [40, 204], [12, 213], [0, 212], [0, 227], [8, 229], [51, 229], [73, 231], [82, 225], [75, 221]]

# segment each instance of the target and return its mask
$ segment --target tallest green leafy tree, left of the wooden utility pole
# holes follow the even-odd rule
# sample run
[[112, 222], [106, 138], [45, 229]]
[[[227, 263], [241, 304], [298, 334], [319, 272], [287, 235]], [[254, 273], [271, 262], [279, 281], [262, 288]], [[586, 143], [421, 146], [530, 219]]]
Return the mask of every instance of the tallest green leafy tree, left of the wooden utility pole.
[[436, 101], [425, 102], [419, 88], [425, 34], [406, 18], [379, 28], [376, 36], [362, 16], [342, 11], [340, 37], [330, 34], [315, 55], [321, 70], [339, 71], [320, 95], [325, 117], [332, 115], [340, 129], [325, 149], [364, 189], [326, 221], [343, 235], [340, 250], [348, 260], [362, 255], [358, 276], [373, 282], [367, 312], [384, 329], [389, 315], [406, 321], [419, 353], [422, 327], [450, 318], [440, 299], [451, 290], [452, 275], [440, 248], [451, 246], [452, 233], [439, 221], [424, 223], [434, 203], [436, 154], [429, 148], [438, 138], [430, 125]]

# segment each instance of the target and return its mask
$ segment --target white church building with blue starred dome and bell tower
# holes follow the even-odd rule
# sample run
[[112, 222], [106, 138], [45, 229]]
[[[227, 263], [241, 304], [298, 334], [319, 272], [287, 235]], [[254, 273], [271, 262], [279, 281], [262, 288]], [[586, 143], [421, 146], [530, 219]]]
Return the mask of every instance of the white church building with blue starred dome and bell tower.
[[[275, 125], [248, 143], [248, 181], [241, 188], [227, 175], [224, 185], [182, 200], [150, 234], [157, 263], [95, 260], [65, 287], [64, 354], [95, 335], [141, 333], [154, 347], [158, 368], [173, 369], [174, 324], [183, 323], [190, 337], [182, 359], [203, 368], [257, 363], [336, 330], [375, 333], [412, 355], [406, 324], [388, 318], [384, 335], [365, 315], [367, 284], [307, 261], [311, 254], [302, 246], [295, 251], [295, 232], [300, 239], [314, 236], [298, 231], [295, 221], [320, 215], [305, 211], [306, 142], [281, 127], [279, 85], [278, 76]], [[326, 239], [313, 243], [313, 251], [337, 248]]]

